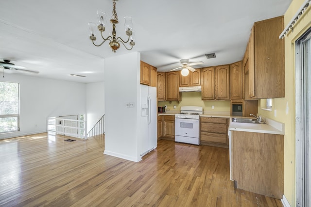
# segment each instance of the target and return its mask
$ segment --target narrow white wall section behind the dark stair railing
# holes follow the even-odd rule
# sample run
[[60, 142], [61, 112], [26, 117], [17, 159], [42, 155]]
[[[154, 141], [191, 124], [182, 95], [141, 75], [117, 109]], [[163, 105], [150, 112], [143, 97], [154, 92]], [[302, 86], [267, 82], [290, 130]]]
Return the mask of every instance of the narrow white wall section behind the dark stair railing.
[[104, 82], [86, 84], [86, 131], [88, 132], [105, 113]]

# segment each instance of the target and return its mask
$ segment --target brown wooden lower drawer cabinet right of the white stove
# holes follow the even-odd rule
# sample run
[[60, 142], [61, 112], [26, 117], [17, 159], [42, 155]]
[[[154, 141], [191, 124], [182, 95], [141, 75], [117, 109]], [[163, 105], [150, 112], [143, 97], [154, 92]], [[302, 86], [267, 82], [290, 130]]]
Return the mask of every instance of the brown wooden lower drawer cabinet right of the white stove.
[[228, 118], [200, 117], [200, 144], [228, 148]]

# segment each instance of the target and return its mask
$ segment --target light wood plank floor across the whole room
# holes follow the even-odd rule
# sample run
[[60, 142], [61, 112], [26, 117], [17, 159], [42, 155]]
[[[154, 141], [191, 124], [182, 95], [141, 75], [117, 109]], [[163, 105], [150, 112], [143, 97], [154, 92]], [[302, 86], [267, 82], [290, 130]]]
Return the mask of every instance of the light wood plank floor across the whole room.
[[136, 163], [104, 155], [104, 137], [65, 139], [0, 140], [1, 207], [282, 207], [234, 188], [225, 148], [160, 140]]

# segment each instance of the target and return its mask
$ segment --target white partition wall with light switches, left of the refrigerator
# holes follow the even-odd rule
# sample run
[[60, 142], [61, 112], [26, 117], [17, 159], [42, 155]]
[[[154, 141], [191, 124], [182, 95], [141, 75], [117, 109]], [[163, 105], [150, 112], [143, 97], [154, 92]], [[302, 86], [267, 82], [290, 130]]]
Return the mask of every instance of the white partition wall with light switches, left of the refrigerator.
[[[105, 59], [105, 151], [132, 161], [138, 156], [138, 102], [140, 53]], [[134, 108], [126, 108], [134, 102]]]

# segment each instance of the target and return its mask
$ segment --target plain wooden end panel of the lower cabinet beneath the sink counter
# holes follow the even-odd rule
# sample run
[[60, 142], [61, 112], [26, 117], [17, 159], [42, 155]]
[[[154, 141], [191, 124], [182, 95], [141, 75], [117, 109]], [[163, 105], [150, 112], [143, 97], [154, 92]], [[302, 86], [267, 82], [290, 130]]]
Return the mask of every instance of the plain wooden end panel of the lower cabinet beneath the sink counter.
[[232, 178], [237, 188], [281, 199], [284, 135], [232, 131], [231, 147]]

